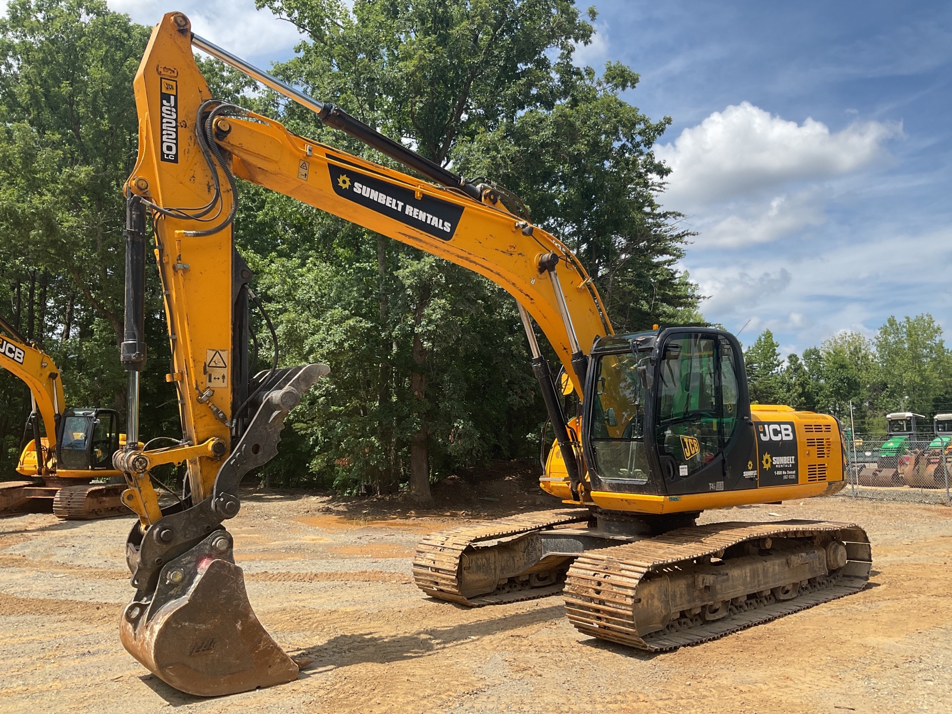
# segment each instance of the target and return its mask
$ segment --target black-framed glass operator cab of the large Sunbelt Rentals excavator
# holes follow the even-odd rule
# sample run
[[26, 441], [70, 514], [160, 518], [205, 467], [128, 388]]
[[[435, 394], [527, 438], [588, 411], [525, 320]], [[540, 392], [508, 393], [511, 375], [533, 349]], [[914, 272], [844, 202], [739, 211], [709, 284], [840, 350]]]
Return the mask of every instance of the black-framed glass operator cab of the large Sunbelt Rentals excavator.
[[672, 495], [757, 486], [743, 351], [732, 334], [668, 327], [602, 338], [585, 392], [593, 488]]

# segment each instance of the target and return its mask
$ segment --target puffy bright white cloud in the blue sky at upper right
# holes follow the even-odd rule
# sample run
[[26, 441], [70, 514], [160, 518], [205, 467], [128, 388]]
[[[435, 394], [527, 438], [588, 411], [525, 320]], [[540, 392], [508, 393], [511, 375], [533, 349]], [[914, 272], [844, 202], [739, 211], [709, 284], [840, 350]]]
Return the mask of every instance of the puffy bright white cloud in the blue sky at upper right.
[[823, 122], [786, 121], [749, 102], [715, 111], [656, 149], [672, 172], [664, 203], [691, 210], [793, 181], [817, 181], [863, 169], [883, 157], [898, 125], [854, 122], [831, 132]]

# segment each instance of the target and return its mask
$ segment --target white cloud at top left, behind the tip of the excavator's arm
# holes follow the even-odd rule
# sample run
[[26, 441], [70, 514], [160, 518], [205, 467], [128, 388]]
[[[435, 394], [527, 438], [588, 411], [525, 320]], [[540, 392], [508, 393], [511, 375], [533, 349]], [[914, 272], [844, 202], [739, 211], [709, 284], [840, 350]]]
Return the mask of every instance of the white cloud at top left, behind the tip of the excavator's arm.
[[[155, 25], [169, 11], [164, 0], [108, 0], [109, 10], [126, 12], [133, 21]], [[254, 0], [180, 0], [174, 10], [188, 15], [197, 34], [239, 57], [288, 59], [302, 35]]]

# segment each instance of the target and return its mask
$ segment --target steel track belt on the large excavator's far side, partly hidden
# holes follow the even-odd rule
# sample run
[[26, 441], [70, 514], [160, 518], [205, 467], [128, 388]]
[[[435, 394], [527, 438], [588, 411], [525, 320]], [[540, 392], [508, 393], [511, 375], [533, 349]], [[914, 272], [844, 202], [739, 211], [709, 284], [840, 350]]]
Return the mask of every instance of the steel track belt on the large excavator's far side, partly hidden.
[[470, 607], [501, 605], [555, 595], [562, 590], [561, 582], [541, 587], [508, 583], [497, 588], [495, 592], [466, 597], [461, 582], [466, 552], [486, 541], [498, 541], [544, 528], [587, 522], [590, 519], [591, 514], [587, 509], [565, 508], [509, 516], [474, 526], [459, 526], [431, 533], [417, 545], [413, 559], [413, 581], [430, 597]]

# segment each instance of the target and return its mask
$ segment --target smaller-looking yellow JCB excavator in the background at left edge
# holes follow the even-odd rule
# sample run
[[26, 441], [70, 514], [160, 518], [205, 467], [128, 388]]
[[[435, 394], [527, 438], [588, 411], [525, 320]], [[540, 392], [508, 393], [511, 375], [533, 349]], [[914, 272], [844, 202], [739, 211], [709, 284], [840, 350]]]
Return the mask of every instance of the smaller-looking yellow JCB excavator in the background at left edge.
[[0, 516], [50, 505], [53, 514], [63, 519], [128, 513], [120, 500], [121, 483], [92, 483], [93, 479], [123, 478], [112, 467], [112, 455], [124, 443], [119, 413], [64, 408], [63, 380], [52, 357], [2, 317], [0, 328], [6, 333], [0, 336], [0, 367], [30, 387], [32, 402], [16, 466], [17, 473], [32, 480], [0, 482]]

